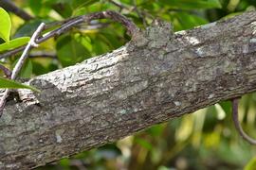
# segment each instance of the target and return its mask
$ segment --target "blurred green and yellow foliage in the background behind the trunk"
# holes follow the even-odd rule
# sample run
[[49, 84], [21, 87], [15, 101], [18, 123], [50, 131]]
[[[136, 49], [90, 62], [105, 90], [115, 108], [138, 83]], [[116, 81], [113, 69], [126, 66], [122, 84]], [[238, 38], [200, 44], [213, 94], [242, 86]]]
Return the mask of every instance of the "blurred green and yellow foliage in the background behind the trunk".
[[[144, 28], [154, 18], [173, 23], [174, 30], [205, 25], [256, 7], [255, 0], [16, 0], [33, 19], [11, 16], [10, 40], [29, 37], [41, 22], [112, 9]], [[0, 26], [2, 29], [2, 25]], [[129, 41], [122, 26], [109, 20], [72, 28], [33, 49], [21, 73], [31, 77], [109, 52]], [[4, 43], [4, 40], [0, 40]], [[1, 45], [1, 44], [0, 44]], [[9, 48], [8, 48], [9, 49]], [[4, 53], [2, 50], [0, 53]], [[1, 59], [12, 68], [19, 55]], [[240, 102], [240, 118], [248, 133], [255, 127], [256, 93]], [[115, 144], [82, 152], [38, 169], [256, 169], [256, 149], [235, 131], [230, 103], [223, 101], [168, 123], [150, 127]], [[254, 133], [254, 137], [255, 133]]]

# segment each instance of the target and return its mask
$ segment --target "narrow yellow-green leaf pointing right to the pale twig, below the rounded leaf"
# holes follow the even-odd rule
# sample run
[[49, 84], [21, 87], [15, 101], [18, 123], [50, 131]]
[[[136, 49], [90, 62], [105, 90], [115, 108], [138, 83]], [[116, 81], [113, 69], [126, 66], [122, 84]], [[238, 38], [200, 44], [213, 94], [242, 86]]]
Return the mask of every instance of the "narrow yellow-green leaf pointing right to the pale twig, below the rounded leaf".
[[0, 52], [10, 50], [16, 47], [19, 47], [21, 45], [26, 44], [30, 40], [29, 37], [21, 37], [14, 40], [11, 40], [9, 42], [4, 42], [0, 44]]

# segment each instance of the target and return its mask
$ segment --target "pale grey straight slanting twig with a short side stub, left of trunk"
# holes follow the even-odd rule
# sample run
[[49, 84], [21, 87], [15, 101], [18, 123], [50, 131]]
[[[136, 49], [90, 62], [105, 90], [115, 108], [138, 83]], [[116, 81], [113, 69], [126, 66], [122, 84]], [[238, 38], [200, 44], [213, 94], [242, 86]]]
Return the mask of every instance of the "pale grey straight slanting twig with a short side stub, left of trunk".
[[[27, 59], [29, 49], [31, 47], [37, 47], [38, 46], [38, 44], [36, 44], [35, 41], [39, 37], [40, 33], [43, 31], [45, 26], [46, 26], [45, 23], [42, 23], [40, 26], [37, 27], [36, 31], [33, 33], [30, 41], [27, 43], [27, 46], [26, 46], [25, 50], [22, 53], [21, 58], [18, 60], [18, 62], [14, 66], [12, 74], [10, 76], [10, 79], [15, 79], [16, 76], [18, 76], [19, 72], [21, 71], [22, 66], [24, 65], [24, 62]], [[3, 96], [0, 99], [0, 117], [3, 114], [3, 110], [5, 108], [6, 100], [7, 100], [8, 96], [9, 96], [9, 89], [6, 89], [5, 93], [3, 94]]]

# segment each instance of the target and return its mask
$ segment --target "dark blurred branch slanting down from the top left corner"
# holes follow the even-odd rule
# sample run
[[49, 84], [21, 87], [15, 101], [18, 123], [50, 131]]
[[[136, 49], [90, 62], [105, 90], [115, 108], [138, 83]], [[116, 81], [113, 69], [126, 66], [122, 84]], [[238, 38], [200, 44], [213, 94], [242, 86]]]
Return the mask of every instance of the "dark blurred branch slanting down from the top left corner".
[[6, 10], [9, 10], [10, 12], [14, 13], [15, 15], [19, 16], [25, 21], [33, 19], [31, 15], [29, 15], [25, 10], [22, 8], [18, 8], [10, 2], [9, 0], [0, 0], [0, 7], [5, 8]]

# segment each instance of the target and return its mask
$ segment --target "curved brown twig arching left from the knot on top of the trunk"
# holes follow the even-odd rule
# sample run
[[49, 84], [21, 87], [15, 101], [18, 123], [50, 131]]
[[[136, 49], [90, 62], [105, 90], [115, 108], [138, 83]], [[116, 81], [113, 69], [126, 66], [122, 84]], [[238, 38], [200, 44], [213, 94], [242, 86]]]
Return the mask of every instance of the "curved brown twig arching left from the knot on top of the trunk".
[[[63, 34], [65, 31], [69, 30], [73, 26], [78, 26], [82, 23], [89, 23], [92, 20], [104, 19], [104, 18], [109, 18], [109, 19], [119, 22], [120, 24], [122, 24], [123, 26], [125, 26], [127, 28], [127, 31], [131, 36], [133, 36], [138, 30], [137, 26], [131, 20], [129, 20], [128, 18], [126, 18], [123, 15], [120, 15], [118, 12], [109, 10], [109, 11], [95, 12], [95, 13], [91, 13], [88, 15], [81, 15], [79, 17], [68, 19], [67, 23], [64, 23], [63, 26], [61, 26], [51, 32], [46, 33], [42, 38], [39, 38], [36, 41], [36, 43], [46, 42], [46, 40], [48, 40], [52, 37], [59, 36], [60, 34]], [[0, 59], [7, 58], [9, 56], [12, 56], [12, 55], [20, 52], [20, 51], [23, 51], [25, 49], [25, 47], [26, 46], [20, 46], [16, 49], [10, 50], [7, 53], [0, 55]]]

